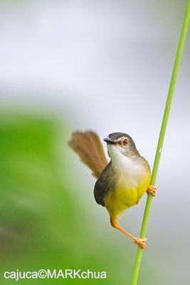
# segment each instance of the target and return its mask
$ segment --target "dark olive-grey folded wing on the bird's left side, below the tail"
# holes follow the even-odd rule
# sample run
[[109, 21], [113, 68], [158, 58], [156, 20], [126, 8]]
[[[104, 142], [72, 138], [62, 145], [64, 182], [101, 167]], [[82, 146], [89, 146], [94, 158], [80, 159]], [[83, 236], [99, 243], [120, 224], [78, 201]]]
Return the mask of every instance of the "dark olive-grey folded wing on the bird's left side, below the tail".
[[114, 181], [112, 180], [112, 177], [114, 175], [113, 172], [114, 170], [112, 169], [111, 162], [109, 162], [109, 164], [107, 165], [107, 167], [105, 167], [105, 170], [102, 172], [102, 174], [95, 183], [95, 201], [97, 202], [97, 204], [101, 204], [103, 207], [105, 207], [105, 202], [103, 199], [105, 194], [115, 187]]

